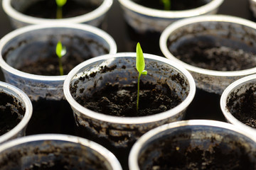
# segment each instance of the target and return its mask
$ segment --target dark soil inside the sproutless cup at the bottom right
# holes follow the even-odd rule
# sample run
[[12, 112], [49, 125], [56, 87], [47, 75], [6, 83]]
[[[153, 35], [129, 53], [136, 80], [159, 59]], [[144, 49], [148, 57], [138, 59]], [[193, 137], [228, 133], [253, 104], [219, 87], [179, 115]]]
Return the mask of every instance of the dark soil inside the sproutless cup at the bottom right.
[[232, 145], [236, 145], [236, 149], [227, 149], [230, 146], [226, 143], [213, 143], [208, 149], [201, 149], [189, 141], [176, 143], [172, 139], [161, 139], [139, 156], [139, 166], [143, 170], [254, 169], [255, 164], [245, 148]]

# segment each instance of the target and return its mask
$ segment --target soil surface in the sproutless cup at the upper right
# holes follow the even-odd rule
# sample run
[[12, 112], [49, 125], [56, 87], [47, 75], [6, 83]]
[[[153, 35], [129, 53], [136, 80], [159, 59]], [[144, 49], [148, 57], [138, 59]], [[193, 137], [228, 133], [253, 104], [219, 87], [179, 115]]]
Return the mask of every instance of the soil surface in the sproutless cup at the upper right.
[[206, 41], [184, 42], [171, 53], [179, 60], [203, 69], [239, 71], [256, 67], [256, 55], [252, 52]]

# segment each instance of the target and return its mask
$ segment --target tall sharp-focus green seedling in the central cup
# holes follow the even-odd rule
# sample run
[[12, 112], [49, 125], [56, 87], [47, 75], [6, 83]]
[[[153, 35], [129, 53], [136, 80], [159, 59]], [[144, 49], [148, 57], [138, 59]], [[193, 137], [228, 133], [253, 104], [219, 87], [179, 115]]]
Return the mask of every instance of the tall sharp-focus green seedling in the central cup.
[[137, 92], [137, 111], [139, 110], [139, 79], [141, 75], [146, 75], [147, 72], [145, 69], [145, 61], [144, 61], [144, 56], [142, 52], [142, 47], [140, 46], [139, 42], [137, 43], [136, 47], [136, 69], [139, 72], [139, 77], [138, 77], [138, 92]]

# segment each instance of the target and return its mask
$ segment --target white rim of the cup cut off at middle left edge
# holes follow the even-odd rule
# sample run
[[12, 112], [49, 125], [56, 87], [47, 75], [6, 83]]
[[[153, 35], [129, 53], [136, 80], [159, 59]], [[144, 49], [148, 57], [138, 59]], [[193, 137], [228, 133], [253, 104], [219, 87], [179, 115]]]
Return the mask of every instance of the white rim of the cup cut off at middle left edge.
[[0, 143], [2, 143], [6, 142], [7, 140], [11, 140], [16, 135], [18, 135], [18, 132], [26, 128], [32, 116], [33, 106], [28, 96], [23, 91], [21, 91], [21, 89], [18, 89], [16, 86], [0, 81], [0, 88], [1, 91], [8, 91], [7, 94], [12, 94], [14, 97], [19, 98], [26, 109], [25, 114], [21, 119], [21, 122], [19, 122], [18, 125], [16, 125], [9, 132], [6, 132], [4, 135], [0, 136]]

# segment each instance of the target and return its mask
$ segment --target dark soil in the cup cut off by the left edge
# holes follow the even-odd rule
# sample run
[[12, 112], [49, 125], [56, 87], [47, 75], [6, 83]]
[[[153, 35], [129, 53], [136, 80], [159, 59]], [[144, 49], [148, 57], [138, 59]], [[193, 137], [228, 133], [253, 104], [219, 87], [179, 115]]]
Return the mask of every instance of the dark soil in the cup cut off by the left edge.
[[0, 92], [0, 135], [4, 135], [18, 125], [25, 111], [18, 99]]

